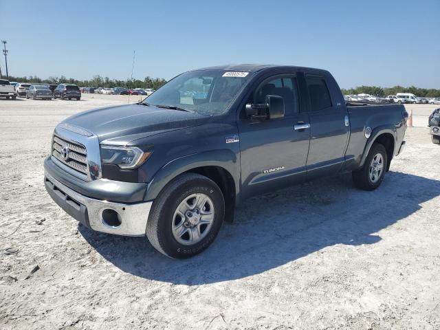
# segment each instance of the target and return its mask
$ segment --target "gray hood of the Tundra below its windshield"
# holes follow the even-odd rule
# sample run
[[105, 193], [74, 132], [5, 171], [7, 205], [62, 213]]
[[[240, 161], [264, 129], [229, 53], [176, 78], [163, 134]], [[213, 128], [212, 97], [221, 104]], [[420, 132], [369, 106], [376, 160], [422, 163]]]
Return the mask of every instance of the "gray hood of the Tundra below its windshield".
[[142, 104], [126, 104], [84, 111], [63, 121], [98, 135], [103, 144], [124, 145], [175, 129], [207, 122], [210, 116]]

